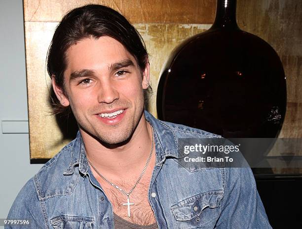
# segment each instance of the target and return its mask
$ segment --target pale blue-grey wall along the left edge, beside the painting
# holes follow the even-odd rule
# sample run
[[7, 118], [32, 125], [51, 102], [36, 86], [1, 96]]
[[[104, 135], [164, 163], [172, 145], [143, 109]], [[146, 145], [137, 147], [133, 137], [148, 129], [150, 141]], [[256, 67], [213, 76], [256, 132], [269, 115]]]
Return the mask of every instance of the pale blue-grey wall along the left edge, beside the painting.
[[[42, 166], [30, 164], [28, 125], [5, 120], [28, 121], [22, 0], [0, 0], [0, 218]], [[3, 134], [12, 128], [24, 134]]]

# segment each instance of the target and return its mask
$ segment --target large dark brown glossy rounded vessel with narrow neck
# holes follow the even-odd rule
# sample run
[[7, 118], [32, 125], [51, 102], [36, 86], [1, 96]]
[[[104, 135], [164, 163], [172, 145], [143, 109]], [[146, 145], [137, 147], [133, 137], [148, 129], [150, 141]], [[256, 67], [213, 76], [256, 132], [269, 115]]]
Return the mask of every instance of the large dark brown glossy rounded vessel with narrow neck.
[[236, 1], [218, 0], [213, 26], [167, 61], [156, 102], [161, 120], [223, 137], [277, 137], [286, 111], [284, 70], [269, 44], [238, 28]]

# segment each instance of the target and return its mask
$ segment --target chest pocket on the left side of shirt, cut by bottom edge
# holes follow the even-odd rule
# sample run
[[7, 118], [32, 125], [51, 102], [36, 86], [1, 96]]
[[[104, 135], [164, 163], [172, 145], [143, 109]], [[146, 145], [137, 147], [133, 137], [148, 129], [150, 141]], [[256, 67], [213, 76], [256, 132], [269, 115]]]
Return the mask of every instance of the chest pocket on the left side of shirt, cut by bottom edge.
[[59, 216], [50, 220], [54, 229], [93, 229], [94, 219], [80, 216]]

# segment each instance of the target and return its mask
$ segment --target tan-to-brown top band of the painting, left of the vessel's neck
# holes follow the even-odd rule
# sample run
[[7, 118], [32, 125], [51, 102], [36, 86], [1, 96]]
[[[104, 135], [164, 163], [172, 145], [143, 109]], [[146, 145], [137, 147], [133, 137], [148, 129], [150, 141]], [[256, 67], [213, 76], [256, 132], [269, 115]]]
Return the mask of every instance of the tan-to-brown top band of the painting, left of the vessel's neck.
[[59, 22], [69, 10], [88, 3], [104, 4], [131, 23], [212, 23], [213, 0], [24, 0], [25, 21]]

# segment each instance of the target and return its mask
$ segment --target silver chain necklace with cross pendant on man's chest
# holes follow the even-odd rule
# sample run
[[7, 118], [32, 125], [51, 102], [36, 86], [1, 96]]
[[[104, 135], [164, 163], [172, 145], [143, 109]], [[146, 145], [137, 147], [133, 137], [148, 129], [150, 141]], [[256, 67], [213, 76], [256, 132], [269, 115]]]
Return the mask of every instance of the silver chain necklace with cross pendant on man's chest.
[[[151, 125], [150, 125], [151, 126]], [[152, 136], [152, 140], [151, 140], [151, 150], [150, 150], [150, 155], [147, 159], [147, 162], [144, 166], [144, 169], [140, 175], [140, 177], [138, 178], [138, 180], [136, 181], [136, 183], [134, 184], [134, 186], [131, 188], [131, 190], [129, 192], [126, 192], [125, 190], [123, 190], [122, 188], [120, 188], [119, 186], [117, 186], [116, 184], [112, 183], [111, 181], [109, 181], [107, 178], [105, 178], [96, 168], [95, 166], [91, 163], [91, 161], [89, 161], [89, 159], [87, 158], [87, 161], [89, 162], [89, 164], [91, 165], [91, 167], [94, 169], [94, 171], [101, 177], [103, 178], [104, 181], [106, 181], [107, 183], [111, 184], [111, 186], [115, 187], [117, 190], [119, 190], [120, 192], [122, 192], [123, 194], [125, 194], [127, 196], [127, 203], [123, 203], [124, 206], [127, 205], [128, 208], [128, 217], [130, 217], [130, 205], [134, 205], [134, 203], [130, 203], [129, 200], [129, 195], [133, 192], [134, 188], [136, 187], [136, 185], [140, 182], [140, 180], [142, 179], [143, 175], [146, 172], [146, 169], [149, 165], [151, 156], [152, 156], [152, 152], [153, 152], [153, 147], [154, 147], [154, 139], [153, 139], [153, 127], [151, 126], [151, 136]]]

